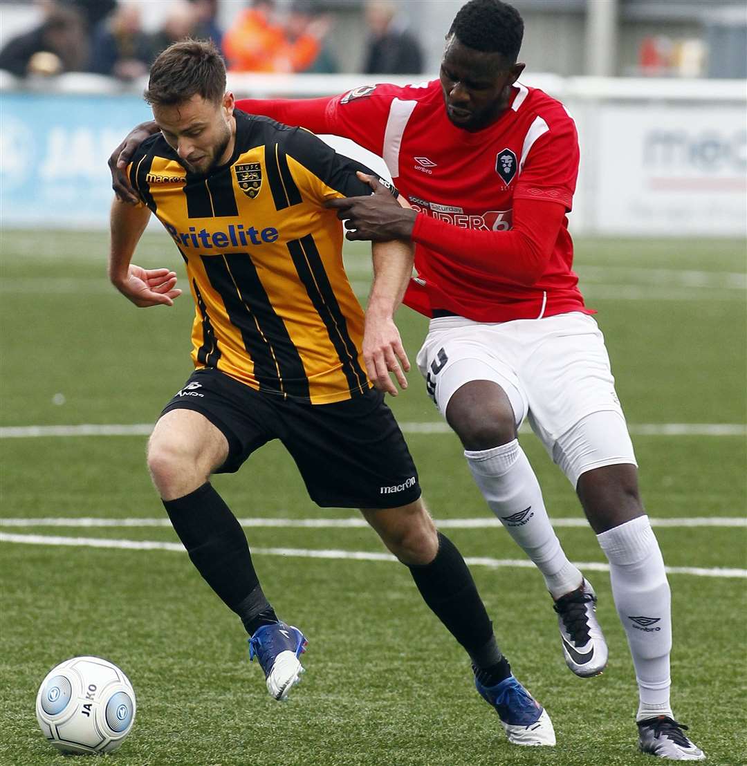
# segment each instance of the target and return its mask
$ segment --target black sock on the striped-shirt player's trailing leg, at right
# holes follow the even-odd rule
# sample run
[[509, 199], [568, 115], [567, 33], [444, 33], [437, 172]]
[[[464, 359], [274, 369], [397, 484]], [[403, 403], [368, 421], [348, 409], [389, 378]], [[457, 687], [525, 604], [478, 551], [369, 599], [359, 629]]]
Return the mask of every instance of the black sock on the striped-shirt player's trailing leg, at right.
[[480, 668], [500, 663], [503, 655], [493, 636], [493, 624], [454, 543], [438, 532], [436, 558], [409, 569], [425, 603], [467, 650], [473, 663]]

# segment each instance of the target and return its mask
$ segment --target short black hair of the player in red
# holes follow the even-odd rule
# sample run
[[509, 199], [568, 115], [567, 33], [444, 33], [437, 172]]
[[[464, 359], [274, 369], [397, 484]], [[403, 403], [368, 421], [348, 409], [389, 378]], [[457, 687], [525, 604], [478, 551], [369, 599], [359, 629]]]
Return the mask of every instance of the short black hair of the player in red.
[[502, 0], [470, 0], [454, 16], [447, 37], [452, 34], [467, 47], [500, 53], [515, 64], [524, 36], [524, 21], [513, 5]]

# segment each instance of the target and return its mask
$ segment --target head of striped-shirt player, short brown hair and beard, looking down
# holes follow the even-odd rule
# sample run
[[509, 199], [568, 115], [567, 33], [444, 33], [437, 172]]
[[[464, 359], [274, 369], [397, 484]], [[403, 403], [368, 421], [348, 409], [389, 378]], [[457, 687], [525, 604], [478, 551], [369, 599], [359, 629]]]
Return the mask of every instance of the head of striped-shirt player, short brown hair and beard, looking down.
[[150, 68], [145, 99], [169, 146], [186, 168], [207, 173], [225, 162], [234, 136], [234, 95], [226, 68], [210, 41], [170, 45]]

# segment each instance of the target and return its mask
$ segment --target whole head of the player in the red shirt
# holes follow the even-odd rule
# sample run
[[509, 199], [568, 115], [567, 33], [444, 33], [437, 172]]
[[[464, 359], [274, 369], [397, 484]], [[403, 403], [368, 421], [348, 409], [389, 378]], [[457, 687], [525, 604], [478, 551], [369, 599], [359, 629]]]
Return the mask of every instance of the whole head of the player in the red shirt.
[[441, 61], [447, 116], [465, 130], [490, 125], [508, 105], [524, 64], [519, 11], [501, 0], [470, 0], [454, 17]]

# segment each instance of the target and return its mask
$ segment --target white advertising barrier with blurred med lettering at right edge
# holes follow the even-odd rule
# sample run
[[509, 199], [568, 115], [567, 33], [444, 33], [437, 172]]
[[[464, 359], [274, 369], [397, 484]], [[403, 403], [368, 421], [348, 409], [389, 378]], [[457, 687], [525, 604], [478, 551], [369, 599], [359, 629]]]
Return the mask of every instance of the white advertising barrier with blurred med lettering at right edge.
[[601, 106], [590, 228], [602, 234], [745, 234], [745, 110]]

